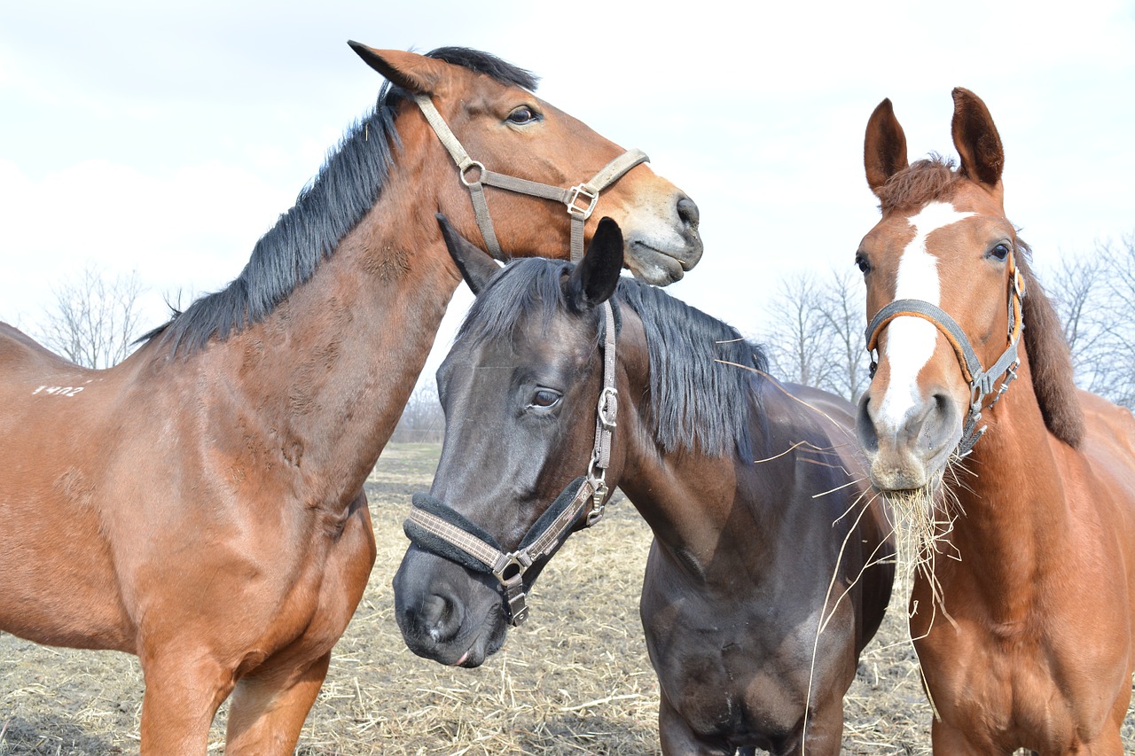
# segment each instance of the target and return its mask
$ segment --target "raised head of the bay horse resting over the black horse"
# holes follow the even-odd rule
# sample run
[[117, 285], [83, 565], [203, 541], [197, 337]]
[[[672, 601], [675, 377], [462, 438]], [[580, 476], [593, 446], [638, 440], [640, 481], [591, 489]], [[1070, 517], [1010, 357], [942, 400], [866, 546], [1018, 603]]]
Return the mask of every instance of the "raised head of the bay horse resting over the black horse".
[[[419, 186], [445, 187], [436, 204], [415, 203], [419, 212], [430, 208], [417, 219], [423, 233], [436, 235], [428, 213], [440, 210], [462, 235], [486, 237], [490, 250], [495, 240], [489, 237], [498, 237], [503, 257], [566, 258], [569, 217], [586, 221], [582, 238], [589, 240], [598, 226], [592, 211], [599, 210], [623, 229], [625, 264], [642, 280], [670, 284], [701, 258], [697, 204], [646, 165], [613, 168], [624, 151], [536, 96], [536, 78], [528, 72], [462, 48], [427, 57], [351, 45], [395, 93], [404, 94], [397, 120], [405, 149], [398, 168], [438, 178]], [[403, 117], [407, 111], [412, 118]], [[445, 132], [452, 143], [439, 141]], [[407, 165], [410, 156], [421, 158]], [[563, 196], [550, 191], [556, 188]], [[470, 192], [482, 192], [491, 213], [474, 212]], [[486, 230], [478, 215], [490, 215], [495, 230]]]

